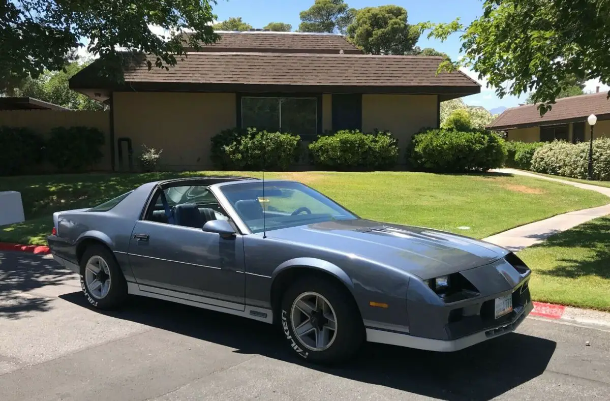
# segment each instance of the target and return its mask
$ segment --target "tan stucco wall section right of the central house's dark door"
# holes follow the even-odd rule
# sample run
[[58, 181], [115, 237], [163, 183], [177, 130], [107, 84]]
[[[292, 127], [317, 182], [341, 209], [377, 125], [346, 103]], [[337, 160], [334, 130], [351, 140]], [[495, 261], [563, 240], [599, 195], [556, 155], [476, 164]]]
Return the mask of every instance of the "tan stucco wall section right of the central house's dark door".
[[[423, 127], [436, 127], [435, 94], [364, 94], [362, 95], [362, 130], [389, 130], [404, 148], [412, 135]], [[399, 159], [403, 163], [404, 158]]]

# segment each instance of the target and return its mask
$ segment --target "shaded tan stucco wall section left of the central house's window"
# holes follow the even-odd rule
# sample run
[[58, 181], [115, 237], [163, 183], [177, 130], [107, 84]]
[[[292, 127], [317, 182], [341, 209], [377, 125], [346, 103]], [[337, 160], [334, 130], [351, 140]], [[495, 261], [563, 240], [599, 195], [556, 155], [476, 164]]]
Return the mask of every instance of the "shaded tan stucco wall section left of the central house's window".
[[[210, 138], [235, 127], [234, 93], [114, 93], [115, 137], [163, 149], [167, 169], [210, 169]], [[118, 166], [118, 159], [117, 159]]]

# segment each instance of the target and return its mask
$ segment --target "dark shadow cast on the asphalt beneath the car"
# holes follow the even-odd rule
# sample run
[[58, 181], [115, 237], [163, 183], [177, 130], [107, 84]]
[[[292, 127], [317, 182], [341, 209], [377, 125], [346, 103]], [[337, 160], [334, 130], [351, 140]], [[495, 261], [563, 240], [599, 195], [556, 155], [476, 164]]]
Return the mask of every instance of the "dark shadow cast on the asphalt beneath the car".
[[[90, 308], [81, 292], [63, 300]], [[234, 348], [234, 352], [303, 364], [327, 374], [442, 400], [490, 400], [541, 375], [556, 343], [517, 333], [453, 353], [365, 344], [341, 366], [309, 364], [291, 352], [281, 330], [229, 314], [144, 297], [130, 297], [108, 316]]]

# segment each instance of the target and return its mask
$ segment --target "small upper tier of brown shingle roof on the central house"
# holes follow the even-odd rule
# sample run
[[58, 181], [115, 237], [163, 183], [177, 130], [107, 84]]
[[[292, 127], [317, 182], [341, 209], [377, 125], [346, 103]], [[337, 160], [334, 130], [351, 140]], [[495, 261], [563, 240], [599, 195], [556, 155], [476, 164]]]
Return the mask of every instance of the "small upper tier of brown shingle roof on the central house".
[[362, 54], [360, 49], [341, 35], [249, 31], [216, 33], [220, 35], [220, 40], [212, 44], [201, 44], [199, 51], [339, 54], [339, 51], [343, 50], [346, 54]]

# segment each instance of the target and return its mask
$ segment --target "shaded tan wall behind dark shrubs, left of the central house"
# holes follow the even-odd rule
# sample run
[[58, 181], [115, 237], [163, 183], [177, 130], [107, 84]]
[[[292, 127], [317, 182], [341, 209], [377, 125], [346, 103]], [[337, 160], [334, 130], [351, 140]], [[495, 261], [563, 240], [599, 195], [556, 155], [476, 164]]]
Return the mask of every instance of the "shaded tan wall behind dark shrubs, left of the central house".
[[[100, 163], [93, 166], [97, 170], [110, 169], [110, 113], [88, 111], [59, 110], [2, 110], [0, 111], [0, 126], [27, 127], [48, 138], [54, 127], [93, 127], [106, 135], [106, 144], [101, 151], [104, 155]], [[42, 166], [51, 171], [51, 166]]]

